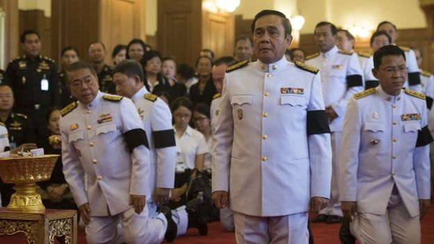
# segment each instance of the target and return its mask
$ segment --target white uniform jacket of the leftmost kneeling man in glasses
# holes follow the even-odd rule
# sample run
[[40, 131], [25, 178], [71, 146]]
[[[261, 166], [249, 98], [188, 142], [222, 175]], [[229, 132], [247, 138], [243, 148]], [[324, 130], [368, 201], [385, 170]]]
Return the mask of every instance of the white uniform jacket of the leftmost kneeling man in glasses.
[[143, 122], [130, 99], [98, 92], [90, 104], [74, 102], [62, 114], [63, 173], [77, 206], [89, 202], [91, 216], [115, 215], [131, 209], [131, 194], [150, 197], [150, 152], [140, 145]]

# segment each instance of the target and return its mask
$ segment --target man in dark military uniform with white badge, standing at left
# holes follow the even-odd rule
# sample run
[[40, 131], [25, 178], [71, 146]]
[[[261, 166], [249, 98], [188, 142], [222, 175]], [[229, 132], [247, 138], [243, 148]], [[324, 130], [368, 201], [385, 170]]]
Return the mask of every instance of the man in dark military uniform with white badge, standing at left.
[[37, 138], [47, 138], [45, 115], [51, 106], [60, 106], [56, 65], [54, 60], [40, 54], [38, 32], [24, 31], [20, 42], [24, 54], [9, 63], [6, 83], [15, 94], [14, 111], [29, 117]]

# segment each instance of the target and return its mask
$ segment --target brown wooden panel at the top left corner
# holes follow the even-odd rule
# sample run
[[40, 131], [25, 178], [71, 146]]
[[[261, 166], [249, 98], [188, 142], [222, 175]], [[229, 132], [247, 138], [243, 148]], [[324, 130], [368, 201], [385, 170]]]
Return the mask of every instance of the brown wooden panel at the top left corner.
[[9, 63], [11, 58], [15, 58], [18, 56], [19, 48], [17, 47], [17, 43], [19, 43], [19, 33], [18, 33], [18, 1], [15, 0], [0, 0], [0, 6], [5, 11], [5, 40], [4, 40], [4, 61], [3, 69], [6, 69], [6, 66]]

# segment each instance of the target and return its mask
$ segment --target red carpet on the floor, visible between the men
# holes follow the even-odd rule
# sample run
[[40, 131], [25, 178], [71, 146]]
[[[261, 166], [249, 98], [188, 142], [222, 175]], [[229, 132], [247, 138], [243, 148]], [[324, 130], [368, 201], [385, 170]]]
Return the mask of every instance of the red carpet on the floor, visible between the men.
[[[434, 202], [433, 202], [434, 203]], [[422, 220], [422, 244], [434, 243], [434, 204]], [[316, 244], [335, 244], [339, 243], [337, 236], [339, 225], [312, 224]], [[0, 244], [24, 244], [27, 243], [24, 234], [14, 236], [0, 236]], [[84, 231], [79, 231], [79, 244], [86, 243]], [[220, 222], [209, 224], [207, 236], [199, 236], [198, 231], [190, 229], [186, 236], [175, 239], [177, 244], [234, 244], [235, 237], [232, 232], [225, 232], [220, 226]]]

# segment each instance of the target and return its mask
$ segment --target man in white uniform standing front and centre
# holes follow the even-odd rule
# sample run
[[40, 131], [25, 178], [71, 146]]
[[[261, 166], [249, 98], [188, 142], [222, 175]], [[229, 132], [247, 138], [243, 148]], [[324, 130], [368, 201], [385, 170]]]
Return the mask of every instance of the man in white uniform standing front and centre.
[[283, 13], [262, 10], [251, 28], [259, 60], [229, 67], [223, 83], [212, 198], [234, 211], [238, 243], [308, 243], [308, 211], [330, 196], [320, 77], [284, 57], [292, 37]]

